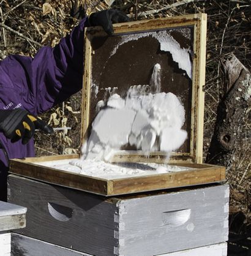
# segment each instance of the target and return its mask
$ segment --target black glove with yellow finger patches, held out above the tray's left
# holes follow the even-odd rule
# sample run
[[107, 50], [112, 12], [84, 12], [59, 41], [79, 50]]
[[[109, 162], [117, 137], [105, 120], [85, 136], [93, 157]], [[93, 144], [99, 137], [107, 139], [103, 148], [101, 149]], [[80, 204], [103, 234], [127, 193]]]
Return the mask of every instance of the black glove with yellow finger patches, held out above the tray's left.
[[12, 142], [22, 139], [26, 144], [34, 135], [35, 129], [43, 130], [47, 134], [53, 133], [53, 128], [45, 122], [32, 116], [28, 111], [17, 108], [15, 110], [0, 110], [0, 130]]

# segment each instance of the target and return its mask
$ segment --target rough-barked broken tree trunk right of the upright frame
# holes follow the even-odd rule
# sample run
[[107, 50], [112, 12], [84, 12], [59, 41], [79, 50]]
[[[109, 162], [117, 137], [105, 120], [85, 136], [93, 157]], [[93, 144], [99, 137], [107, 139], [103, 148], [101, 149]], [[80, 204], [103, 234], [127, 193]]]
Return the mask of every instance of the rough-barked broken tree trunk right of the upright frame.
[[222, 61], [222, 67], [226, 77], [226, 92], [218, 106], [206, 162], [229, 168], [251, 103], [251, 76], [233, 54]]

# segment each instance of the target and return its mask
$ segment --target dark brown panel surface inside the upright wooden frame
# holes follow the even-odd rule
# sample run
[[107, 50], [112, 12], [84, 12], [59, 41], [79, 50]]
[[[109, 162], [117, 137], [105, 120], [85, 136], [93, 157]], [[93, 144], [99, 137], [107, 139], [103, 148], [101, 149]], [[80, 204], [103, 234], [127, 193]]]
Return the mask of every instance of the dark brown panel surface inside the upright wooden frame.
[[[193, 27], [163, 29], [154, 33], [163, 31], [173, 37], [181, 47], [192, 48]], [[142, 34], [146, 33], [137, 33], [138, 36]], [[99, 86], [99, 92], [96, 94], [96, 87], [91, 86], [90, 122], [97, 115], [97, 103], [100, 100], [107, 102], [108, 97], [113, 93], [109, 93], [108, 88], [125, 98], [130, 86], [149, 85], [154, 65], [160, 64], [162, 92], [172, 92], [182, 100], [185, 108], [185, 124], [182, 128], [189, 132], [188, 138], [190, 138], [192, 80], [184, 70], [179, 69], [170, 52], [160, 50], [160, 43], [156, 38], [150, 35], [144, 36], [118, 47], [125, 36], [127, 34], [113, 37], [92, 36], [92, 85]], [[116, 47], [118, 50], [110, 56]], [[189, 151], [190, 139], [186, 140], [179, 149], [179, 152]]]

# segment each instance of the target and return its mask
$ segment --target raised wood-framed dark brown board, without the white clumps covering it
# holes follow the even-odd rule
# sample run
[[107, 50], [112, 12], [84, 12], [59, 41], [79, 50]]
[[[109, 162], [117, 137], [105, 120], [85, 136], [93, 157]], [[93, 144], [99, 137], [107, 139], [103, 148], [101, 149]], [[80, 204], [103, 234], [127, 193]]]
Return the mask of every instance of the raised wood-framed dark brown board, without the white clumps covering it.
[[[153, 67], [159, 63], [162, 68], [162, 92], [173, 92], [185, 108], [183, 129], [187, 130], [188, 138], [175, 154], [175, 159], [183, 157], [183, 160], [189, 159], [190, 162], [201, 162], [204, 107], [202, 83], [205, 69], [205, 49], [201, 48], [205, 48], [205, 26], [205, 16], [189, 15], [150, 20], [147, 24], [146, 21], [118, 24], [114, 26], [113, 37], [108, 37], [100, 28], [87, 29], [81, 136], [83, 140], [89, 136], [91, 123], [97, 115], [98, 102], [106, 101], [112, 93], [125, 97], [130, 86], [149, 85]], [[192, 76], [189, 77], [185, 70], [179, 68], [169, 51], [160, 50], [157, 37], [162, 32], [174, 39], [179, 47], [190, 49]], [[134, 39], [129, 40], [130, 37]], [[135, 40], [135, 37], [138, 39]], [[135, 148], [125, 146], [122, 149], [126, 149], [124, 151], [129, 152], [129, 155], [130, 152], [131, 155], [135, 153]], [[153, 156], [158, 157], [158, 152], [154, 152]], [[142, 157], [136, 156], [137, 159]], [[124, 159], [115, 157], [121, 158]]]

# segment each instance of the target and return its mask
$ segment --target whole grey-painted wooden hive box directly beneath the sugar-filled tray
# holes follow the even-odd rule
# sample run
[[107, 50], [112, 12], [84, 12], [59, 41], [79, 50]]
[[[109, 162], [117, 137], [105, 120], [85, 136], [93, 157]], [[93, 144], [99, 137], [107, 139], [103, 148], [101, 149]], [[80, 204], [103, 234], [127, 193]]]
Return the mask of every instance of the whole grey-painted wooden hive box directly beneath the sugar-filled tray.
[[29, 209], [17, 233], [91, 255], [152, 256], [228, 239], [227, 185], [107, 199], [10, 175], [9, 189]]

